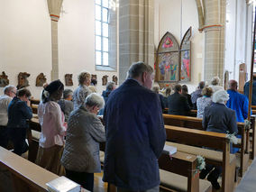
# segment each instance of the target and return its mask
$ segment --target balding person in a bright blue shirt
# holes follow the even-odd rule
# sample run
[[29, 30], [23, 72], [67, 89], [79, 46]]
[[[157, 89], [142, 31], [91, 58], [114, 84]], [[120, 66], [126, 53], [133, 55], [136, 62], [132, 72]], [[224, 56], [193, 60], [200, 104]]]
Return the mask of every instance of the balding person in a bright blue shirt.
[[237, 122], [243, 123], [244, 119], [248, 116], [248, 98], [237, 91], [237, 81], [230, 80], [228, 85], [229, 89], [227, 90], [227, 93], [230, 98], [227, 101], [226, 106], [235, 111]]

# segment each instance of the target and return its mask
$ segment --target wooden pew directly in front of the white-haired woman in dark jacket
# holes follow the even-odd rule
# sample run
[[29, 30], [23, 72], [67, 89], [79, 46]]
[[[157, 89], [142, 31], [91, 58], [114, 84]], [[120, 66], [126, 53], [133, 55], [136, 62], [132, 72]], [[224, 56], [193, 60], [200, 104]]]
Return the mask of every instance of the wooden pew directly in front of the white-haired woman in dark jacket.
[[[166, 125], [174, 125], [180, 127], [186, 127], [190, 129], [204, 130], [202, 119], [191, 117], [191, 116], [182, 116], [174, 114], [163, 114], [164, 123]], [[240, 169], [239, 175], [242, 177], [249, 164], [249, 131], [244, 128], [244, 123], [237, 123], [238, 132], [242, 135], [240, 143], [233, 145], [241, 149], [240, 157]]]

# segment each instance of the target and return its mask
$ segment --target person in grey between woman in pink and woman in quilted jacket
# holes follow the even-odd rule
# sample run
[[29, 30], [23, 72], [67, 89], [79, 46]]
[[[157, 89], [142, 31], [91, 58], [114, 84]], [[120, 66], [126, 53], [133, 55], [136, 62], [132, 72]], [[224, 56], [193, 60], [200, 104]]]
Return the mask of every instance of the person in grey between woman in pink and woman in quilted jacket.
[[63, 98], [59, 100], [58, 104], [61, 108], [61, 111], [65, 115], [65, 122], [68, 122], [69, 114], [74, 109], [74, 104], [72, 102], [73, 91], [71, 89], [65, 89], [63, 91]]

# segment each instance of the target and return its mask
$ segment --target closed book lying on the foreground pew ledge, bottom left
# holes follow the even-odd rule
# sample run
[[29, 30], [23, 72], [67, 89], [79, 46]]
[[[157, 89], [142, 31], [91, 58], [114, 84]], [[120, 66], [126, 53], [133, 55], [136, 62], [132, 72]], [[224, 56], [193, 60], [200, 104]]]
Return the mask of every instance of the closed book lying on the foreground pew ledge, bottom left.
[[81, 190], [81, 186], [78, 183], [64, 176], [55, 178], [46, 183], [46, 185], [50, 192], [79, 192]]

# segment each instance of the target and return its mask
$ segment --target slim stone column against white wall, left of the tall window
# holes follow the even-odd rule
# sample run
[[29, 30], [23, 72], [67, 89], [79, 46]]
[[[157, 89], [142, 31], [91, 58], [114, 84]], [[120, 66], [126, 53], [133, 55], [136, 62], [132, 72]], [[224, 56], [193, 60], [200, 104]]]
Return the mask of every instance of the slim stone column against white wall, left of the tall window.
[[51, 22], [51, 81], [59, 79], [58, 21], [63, 0], [47, 0]]

